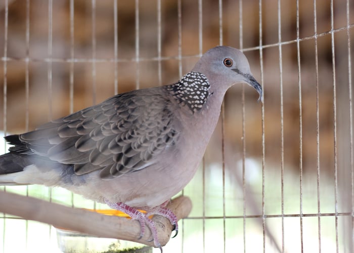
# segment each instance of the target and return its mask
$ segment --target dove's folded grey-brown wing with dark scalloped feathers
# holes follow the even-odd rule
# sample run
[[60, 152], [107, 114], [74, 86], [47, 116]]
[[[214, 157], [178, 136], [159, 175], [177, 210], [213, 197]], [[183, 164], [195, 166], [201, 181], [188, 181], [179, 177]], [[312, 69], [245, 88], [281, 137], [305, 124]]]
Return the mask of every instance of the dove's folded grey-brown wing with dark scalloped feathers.
[[146, 91], [117, 95], [19, 135], [22, 145], [12, 151], [73, 164], [77, 175], [101, 170], [106, 180], [142, 170], [163, 150], [173, 148], [179, 137], [163, 90]]

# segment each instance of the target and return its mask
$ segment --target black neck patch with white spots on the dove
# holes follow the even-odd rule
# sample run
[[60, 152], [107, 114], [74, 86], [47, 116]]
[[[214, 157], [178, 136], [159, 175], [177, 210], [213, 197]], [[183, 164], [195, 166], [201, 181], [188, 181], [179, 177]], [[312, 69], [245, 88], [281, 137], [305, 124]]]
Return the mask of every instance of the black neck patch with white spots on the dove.
[[182, 105], [186, 105], [196, 112], [205, 104], [209, 96], [209, 89], [209, 81], [205, 75], [189, 72], [179, 82], [171, 85], [169, 91]]

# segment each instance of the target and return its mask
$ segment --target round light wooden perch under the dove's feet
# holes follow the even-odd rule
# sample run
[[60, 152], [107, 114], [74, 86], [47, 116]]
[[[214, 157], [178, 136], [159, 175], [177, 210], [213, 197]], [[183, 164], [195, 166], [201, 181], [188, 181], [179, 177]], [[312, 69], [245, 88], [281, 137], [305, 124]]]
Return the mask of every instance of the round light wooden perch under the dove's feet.
[[[166, 207], [180, 220], [189, 215], [192, 202], [188, 197], [180, 196]], [[139, 222], [124, 217], [102, 215], [90, 210], [71, 208], [4, 191], [0, 191], [0, 212], [97, 237], [129, 240], [154, 246], [153, 241], [147, 241], [151, 238], [150, 229], [147, 228], [143, 238], [139, 239]], [[155, 215], [152, 220], [156, 225], [159, 241], [164, 246], [171, 236], [172, 225], [162, 216]]]

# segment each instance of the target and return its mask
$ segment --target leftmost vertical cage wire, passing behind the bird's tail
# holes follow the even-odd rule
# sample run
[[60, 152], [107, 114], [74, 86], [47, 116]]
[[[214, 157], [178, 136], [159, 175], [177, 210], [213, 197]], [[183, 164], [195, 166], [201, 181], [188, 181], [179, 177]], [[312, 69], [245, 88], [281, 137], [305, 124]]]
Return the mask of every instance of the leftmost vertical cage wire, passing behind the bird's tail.
[[[4, 20], [4, 87], [3, 87], [3, 92], [4, 92], [4, 101], [3, 101], [3, 129], [4, 129], [4, 136], [6, 136], [7, 133], [7, 99], [8, 99], [8, 82], [7, 82], [7, 76], [8, 76], [8, 66], [7, 66], [7, 61], [8, 61], [8, 27], [9, 27], [9, 2], [8, 0], [5, 0], [5, 20]], [[5, 149], [6, 149], [6, 143], [5, 143]], [[6, 186], [4, 187], [4, 191], [6, 192]], [[5, 228], [6, 228], [6, 215], [3, 213], [4, 217], [4, 227], [3, 227], [3, 252], [5, 252]]]

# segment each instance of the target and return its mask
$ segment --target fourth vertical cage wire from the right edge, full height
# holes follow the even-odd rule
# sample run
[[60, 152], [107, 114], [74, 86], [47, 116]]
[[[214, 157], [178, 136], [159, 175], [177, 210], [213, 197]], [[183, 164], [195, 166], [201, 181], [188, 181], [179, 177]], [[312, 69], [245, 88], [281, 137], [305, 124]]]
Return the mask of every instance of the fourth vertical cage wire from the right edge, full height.
[[303, 252], [303, 225], [302, 225], [302, 94], [301, 94], [301, 64], [300, 64], [300, 33], [299, 33], [299, 0], [296, 0], [296, 55], [299, 89], [299, 170], [300, 170], [300, 240]]

